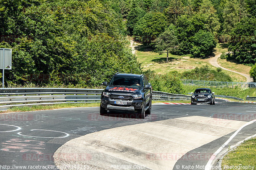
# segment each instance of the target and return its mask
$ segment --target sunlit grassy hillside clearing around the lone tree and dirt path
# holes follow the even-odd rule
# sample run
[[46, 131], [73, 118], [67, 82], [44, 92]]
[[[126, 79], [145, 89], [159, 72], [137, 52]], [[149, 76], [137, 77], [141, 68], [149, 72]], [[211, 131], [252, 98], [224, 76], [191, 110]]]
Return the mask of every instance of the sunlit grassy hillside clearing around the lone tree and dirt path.
[[[127, 37], [128, 40], [132, 40], [132, 37]], [[169, 54], [169, 62], [166, 63], [166, 53], [159, 55], [158, 53], [152, 52], [152, 48], [148, 45], [140, 44], [137, 42], [133, 43], [133, 46], [135, 46], [135, 55], [137, 56], [137, 60], [142, 63], [141, 66], [143, 67], [143, 70], [153, 70], [156, 72], [156, 74], [164, 74], [173, 70], [176, 70], [178, 72], [183, 72], [185, 70], [191, 70], [195, 67], [202, 67], [204, 65], [208, 65], [209, 67], [216, 69], [216, 67], [213, 67], [209, 60], [211, 57], [214, 57], [215, 54], [225, 53], [228, 51], [227, 44], [217, 44], [216, 48], [214, 49], [214, 53], [206, 59], [198, 59], [198, 58], [191, 58], [191, 55], [172, 55]], [[219, 61], [219, 60], [218, 60]], [[248, 72], [249, 74], [249, 66], [239, 65], [233, 63], [233, 62], [226, 62], [221, 61], [219, 64], [222, 67], [226, 66], [232, 66], [229, 69], [240, 70], [238, 72], [241, 72], [241, 70], [246, 69], [246, 74]], [[236, 82], [244, 82], [246, 81], [246, 78], [240, 74], [232, 73], [226, 70], [222, 70], [224, 73], [228, 74], [233, 81]], [[244, 72], [243, 72], [244, 73]]]

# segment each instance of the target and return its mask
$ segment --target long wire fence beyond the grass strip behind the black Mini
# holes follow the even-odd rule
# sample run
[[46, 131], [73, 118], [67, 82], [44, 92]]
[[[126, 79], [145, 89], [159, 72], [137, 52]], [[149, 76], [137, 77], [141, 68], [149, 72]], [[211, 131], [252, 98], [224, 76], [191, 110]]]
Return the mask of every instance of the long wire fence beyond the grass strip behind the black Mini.
[[256, 82], [229, 82], [229, 81], [205, 81], [205, 80], [188, 80], [181, 79], [184, 85], [189, 86], [204, 86], [204, 87], [216, 87], [216, 88], [256, 88]]

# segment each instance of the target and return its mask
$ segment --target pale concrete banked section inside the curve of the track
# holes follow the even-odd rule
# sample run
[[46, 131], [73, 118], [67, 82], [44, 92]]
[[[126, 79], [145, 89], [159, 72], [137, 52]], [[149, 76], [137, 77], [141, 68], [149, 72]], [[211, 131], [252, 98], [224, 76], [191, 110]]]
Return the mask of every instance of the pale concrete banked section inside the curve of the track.
[[[118, 169], [173, 169], [187, 152], [236, 131], [246, 123], [191, 116], [128, 125], [72, 139], [62, 145], [53, 158], [56, 166], [79, 164], [88, 169], [115, 169], [114, 166]], [[61, 156], [72, 153], [86, 153], [89, 157], [70, 160]]]

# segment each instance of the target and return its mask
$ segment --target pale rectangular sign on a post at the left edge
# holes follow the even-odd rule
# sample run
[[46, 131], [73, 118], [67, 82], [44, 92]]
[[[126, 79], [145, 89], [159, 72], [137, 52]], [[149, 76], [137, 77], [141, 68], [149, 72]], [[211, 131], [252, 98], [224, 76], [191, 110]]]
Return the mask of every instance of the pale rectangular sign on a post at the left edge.
[[4, 69], [12, 69], [12, 49], [0, 48], [0, 69], [3, 69], [3, 88], [4, 88]]

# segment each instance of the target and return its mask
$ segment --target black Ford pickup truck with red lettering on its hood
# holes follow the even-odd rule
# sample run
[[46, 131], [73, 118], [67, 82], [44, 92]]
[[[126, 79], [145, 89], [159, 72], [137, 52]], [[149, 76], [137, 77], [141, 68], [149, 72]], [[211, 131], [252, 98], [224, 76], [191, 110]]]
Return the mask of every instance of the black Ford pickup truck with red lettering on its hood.
[[137, 113], [144, 119], [151, 113], [152, 87], [143, 74], [116, 73], [101, 94], [100, 115], [108, 111]]

